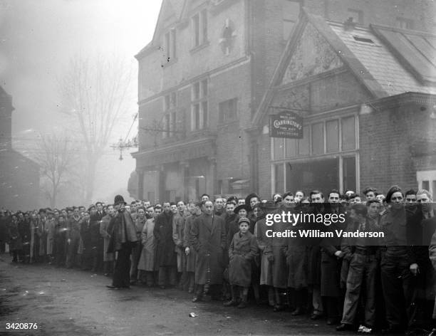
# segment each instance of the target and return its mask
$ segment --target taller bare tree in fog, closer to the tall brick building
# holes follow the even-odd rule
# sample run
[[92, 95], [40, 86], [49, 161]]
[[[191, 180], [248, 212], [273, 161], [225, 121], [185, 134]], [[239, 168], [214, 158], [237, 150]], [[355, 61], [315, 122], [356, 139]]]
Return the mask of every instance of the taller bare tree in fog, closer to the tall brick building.
[[113, 127], [133, 101], [130, 74], [130, 68], [115, 56], [76, 56], [61, 81], [63, 111], [76, 119], [84, 142], [84, 201], [92, 199], [97, 164]]

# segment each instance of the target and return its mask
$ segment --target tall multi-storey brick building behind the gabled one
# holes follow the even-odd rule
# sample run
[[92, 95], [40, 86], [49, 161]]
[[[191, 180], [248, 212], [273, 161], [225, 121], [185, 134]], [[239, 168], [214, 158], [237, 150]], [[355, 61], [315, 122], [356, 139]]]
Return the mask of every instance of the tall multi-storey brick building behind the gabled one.
[[[278, 64], [283, 68], [285, 54], [294, 48], [289, 36], [296, 36], [302, 5], [338, 22], [353, 16], [363, 25], [409, 24], [426, 31], [433, 27], [431, 1], [420, 1], [422, 6], [405, 0], [375, 1], [368, 6], [365, 0], [348, 0], [345, 7], [339, 2], [162, 1], [152, 41], [135, 56], [140, 147], [133, 157], [138, 196], [156, 202], [197, 199], [204, 192], [244, 195], [259, 190], [269, 195], [276, 189], [277, 182], [271, 186], [271, 177], [278, 176], [271, 150], [261, 150], [269, 148], [270, 140], [259, 129], [269, 113], [265, 104], [274, 89], [271, 80], [277, 80]], [[301, 52], [305, 57], [313, 53]], [[355, 78], [335, 71], [335, 83], [341, 81], [337, 89], [348, 95]], [[328, 93], [320, 89], [318, 94]], [[375, 96], [362, 90], [352, 97], [366, 102]], [[352, 164], [347, 169], [360, 181]]]

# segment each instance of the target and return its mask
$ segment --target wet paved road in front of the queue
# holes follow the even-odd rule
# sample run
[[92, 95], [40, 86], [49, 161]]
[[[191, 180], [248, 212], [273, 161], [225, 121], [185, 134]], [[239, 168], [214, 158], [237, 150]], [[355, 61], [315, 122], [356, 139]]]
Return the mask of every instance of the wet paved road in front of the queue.
[[[103, 275], [10, 260], [0, 255], [0, 335], [338, 335], [325, 321], [266, 306], [192, 303], [192, 295], [175, 289], [108, 290]], [[38, 329], [6, 330], [6, 322]]]

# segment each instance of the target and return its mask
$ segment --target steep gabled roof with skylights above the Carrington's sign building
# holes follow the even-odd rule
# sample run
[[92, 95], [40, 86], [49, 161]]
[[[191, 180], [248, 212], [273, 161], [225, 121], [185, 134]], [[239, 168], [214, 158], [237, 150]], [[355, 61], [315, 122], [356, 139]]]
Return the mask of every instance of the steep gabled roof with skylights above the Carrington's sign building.
[[373, 99], [408, 92], [436, 94], [436, 83], [432, 83], [436, 79], [435, 35], [373, 25], [345, 29], [343, 23], [326, 21], [302, 8], [254, 115], [254, 127], [261, 122], [274, 96], [274, 88], [281, 85], [286, 67], [308, 25], [325, 39], [343, 66], [353, 73]]

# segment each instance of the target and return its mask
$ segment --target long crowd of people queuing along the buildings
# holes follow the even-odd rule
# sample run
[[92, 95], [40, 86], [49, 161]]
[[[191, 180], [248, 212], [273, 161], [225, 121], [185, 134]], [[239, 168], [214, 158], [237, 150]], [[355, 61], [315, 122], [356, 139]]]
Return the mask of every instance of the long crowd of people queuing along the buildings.
[[[429, 191], [398, 186], [386, 194], [368, 187], [362, 196], [299, 190], [271, 200], [257, 194], [212, 200], [203, 194], [198, 201], [162, 204], [127, 204], [118, 195], [113, 204], [96, 202], [88, 209], [2, 211], [0, 249], [8, 244], [13, 263], [112, 275], [107, 287], [113, 290], [177, 287], [192, 293], [193, 302], [209, 296], [245, 308], [252, 298], [291, 316], [325, 317], [338, 331], [432, 335], [435, 212]], [[282, 213], [346, 220], [266, 221]], [[271, 234], [299, 229], [383, 234]]]

